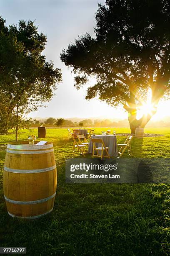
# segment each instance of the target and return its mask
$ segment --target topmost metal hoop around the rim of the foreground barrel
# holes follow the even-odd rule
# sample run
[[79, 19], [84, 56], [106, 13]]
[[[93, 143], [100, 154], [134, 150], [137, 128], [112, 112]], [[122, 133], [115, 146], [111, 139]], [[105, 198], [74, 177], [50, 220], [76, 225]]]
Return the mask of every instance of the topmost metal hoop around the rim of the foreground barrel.
[[46, 148], [52, 148], [53, 144], [44, 144], [42, 146], [38, 146], [36, 144], [34, 145], [29, 145], [29, 144], [20, 144], [20, 145], [13, 145], [13, 144], [7, 144], [7, 148], [9, 149], [18, 149], [18, 150], [29, 150], [32, 149], [32, 147], [34, 147], [34, 149], [46, 149]]

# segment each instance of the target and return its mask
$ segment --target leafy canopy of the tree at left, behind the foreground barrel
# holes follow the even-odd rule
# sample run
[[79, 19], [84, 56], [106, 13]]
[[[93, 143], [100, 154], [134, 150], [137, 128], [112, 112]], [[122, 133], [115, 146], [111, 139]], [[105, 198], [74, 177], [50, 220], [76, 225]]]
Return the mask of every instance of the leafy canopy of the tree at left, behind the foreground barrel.
[[34, 22], [7, 27], [0, 17], [0, 128], [51, 100], [61, 71], [42, 54], [46, 42]]

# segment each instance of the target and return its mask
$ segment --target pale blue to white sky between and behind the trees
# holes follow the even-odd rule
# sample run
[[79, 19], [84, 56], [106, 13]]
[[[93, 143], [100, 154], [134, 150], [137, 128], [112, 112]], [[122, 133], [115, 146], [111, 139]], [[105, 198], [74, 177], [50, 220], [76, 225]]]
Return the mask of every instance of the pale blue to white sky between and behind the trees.
[[[38, 30], [47, 36], [45, 54], [47, 61], [52, 60], [55, 67], [62, 70], [62, 83], [57, 87], [55, 96], [47, 108], [39, 108], [30, 117], [55, 118], [127, 118], [123, 108], [113, 108], [97, 99], [85, 100], [87, 87], [76, 90], [70, 69], [60, 61], [62, 49], [86, 32], [94, 36], [95, 13], [98, 3], [105, 0], [0, 0], [0, 12], [6, 25], [18, 24], [19, 20], [35, 20]], [[92, 85], [92, 84], [91, 84]], [[170, 114], [170, 101], [160, 102], [153, 120]]]

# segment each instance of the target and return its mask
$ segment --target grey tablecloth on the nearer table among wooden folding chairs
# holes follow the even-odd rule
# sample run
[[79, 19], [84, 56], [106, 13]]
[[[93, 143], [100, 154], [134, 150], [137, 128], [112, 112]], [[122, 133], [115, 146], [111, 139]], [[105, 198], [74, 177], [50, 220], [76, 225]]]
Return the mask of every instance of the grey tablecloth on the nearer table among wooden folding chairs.
[[[95, 136], [91, 136], [91, 138], [100, 138], [103, 140], [103, 142], [105, 143], [105, 146], [108, 147], [108, 153], [110, 156], [117, 156], [117, 139], [116, 139], [116, 135], [95, 135]], [[95, 143], [96, 147], [100, 147], [101, 143]], [[88, 148], [88, 153], [92, 154], [92, 148], [93, 148], [93, 144], [90, 140], [90, 144], [89, 144], [89, 148]], [[100, 153], [100, 151], [98, 151]]]

